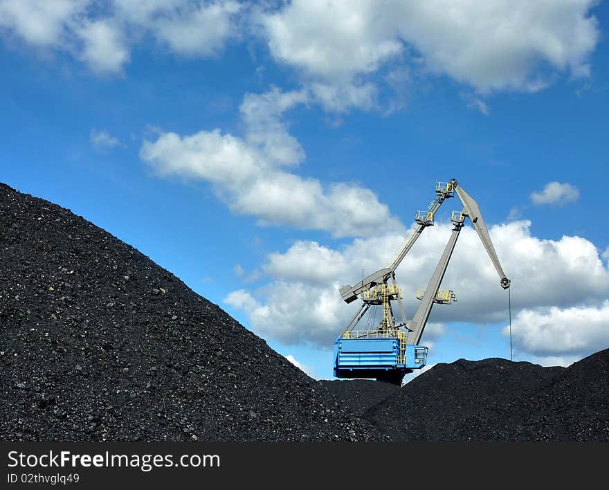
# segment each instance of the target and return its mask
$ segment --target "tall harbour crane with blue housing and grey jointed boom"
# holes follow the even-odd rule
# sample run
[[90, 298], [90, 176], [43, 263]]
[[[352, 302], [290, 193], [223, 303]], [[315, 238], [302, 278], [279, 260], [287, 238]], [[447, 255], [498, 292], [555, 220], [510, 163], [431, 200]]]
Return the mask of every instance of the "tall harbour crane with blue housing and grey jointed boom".
[[[505, 275], [497, 257], [489, 231], [478, 208], [478, 203], [462, 188], [455, 179], [439, 182], [435, 188], [436, 197], [427, 210], [417, 211], [417, 226], [406, 238], [394, 258], [384, 269], [362, 278], [355, 286], [347, 284], [340, 288], [340, 295], [347, 303], [358, 298], [362, 300], [359, 309], [334, 341], [334, 376], [338, 378], [376, 378], [401, 384], [403, 376], [412, 370], [423, 368], [427, 361], [428, 347], [419, 345], [431, 309], [435, 304], [451, 305], [457, 301], [454, 291], [439, 289], [448, 268], [448, 262], [455, 249], [457, 238], [469, 218], [486, 249], [493, 266], [499, 275], [500, 286], [509, 288], [510, 281]], [[417, 291], [420, 300], [411, 320], [406, 318], [395, 271], [404, 257], [415, 244], [421, 233], [433, 226], [435, 214], [446, 199], [455, 197], [462, 203], [461, 211], [453, 211], [451, 221], [453, 230], [444, 252], [431, 276], [426, 289]], [[397, 323], [393, 314], [392, 301], [397, 301], [401, 322]], [[382, 316], [378, 327], [371, 326], [358, 330], [361, 322], [372, 306], [382, 306]], [[370, 322], [368, 325], [371, 325]]]

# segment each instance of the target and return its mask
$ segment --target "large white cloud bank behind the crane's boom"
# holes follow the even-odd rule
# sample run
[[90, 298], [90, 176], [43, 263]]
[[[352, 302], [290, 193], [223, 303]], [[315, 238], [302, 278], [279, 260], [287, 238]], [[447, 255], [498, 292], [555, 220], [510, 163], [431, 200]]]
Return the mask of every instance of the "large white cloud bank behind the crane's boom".
[[[609, 271], [594, 244], [581, 237], [540, 239], [531, 235], [530, 226], [530, 221], [512, 221], [489, 230], [511, 279], [516, 311], [571, 307], [607, 297]], [[451, 228], [448, 223], [437, 223], [426, 231], [397, 269], [408, 318], [419, 304], [417, 288], [426, 287]], [[233, 291], [224, 301], [242, 309], [253, 330], [263, 337], [327, 348], [357, 308], [343, 302], [340, 286], [355, 284], [362, 266], [365, 273], [387, 266], [402, 241], [402, 235], [388, 233], [357, 238], [340, 248], [296, 242], [287, 251], [267, 257], [263, 271], [270, 282], [254, 291]], [[453, 289], [459, 301], [436, 305], [430, 315], [434, 323], [499, 323], [507, 318], [507, 293], [470, 226], [462, 230], [442, 288]], [[428, 325], [423, 342], [441, 336], [442, 329]]]

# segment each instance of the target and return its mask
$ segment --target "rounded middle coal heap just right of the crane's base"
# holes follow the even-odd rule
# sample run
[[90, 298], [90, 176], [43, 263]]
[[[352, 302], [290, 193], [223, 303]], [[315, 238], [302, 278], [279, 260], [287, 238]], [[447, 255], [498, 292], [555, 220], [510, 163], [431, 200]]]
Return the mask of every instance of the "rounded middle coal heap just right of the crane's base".
[[441, 363], [370, 408], [365, 418], [394, 441], [484, 440], [475, 417], [529, 397], [563, 371], [505, 359]]

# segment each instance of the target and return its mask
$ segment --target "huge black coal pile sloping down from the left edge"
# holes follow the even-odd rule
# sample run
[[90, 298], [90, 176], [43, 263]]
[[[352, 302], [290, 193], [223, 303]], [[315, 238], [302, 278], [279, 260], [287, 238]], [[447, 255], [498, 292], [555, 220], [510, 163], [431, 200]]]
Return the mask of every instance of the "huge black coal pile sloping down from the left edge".
[[148, 257], [0, 184], [0, 439], [370, 440], [317, 381]]

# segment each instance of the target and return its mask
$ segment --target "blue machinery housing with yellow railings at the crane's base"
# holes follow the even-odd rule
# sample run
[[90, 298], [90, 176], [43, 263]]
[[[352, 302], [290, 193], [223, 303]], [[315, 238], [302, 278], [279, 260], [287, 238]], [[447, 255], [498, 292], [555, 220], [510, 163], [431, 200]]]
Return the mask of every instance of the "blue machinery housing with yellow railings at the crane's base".
[[334, 341], [334, 376], [401, 385], [405, 374], [424, 367], [427, 350], [406, 344], [402, 332], [343, 332]]

